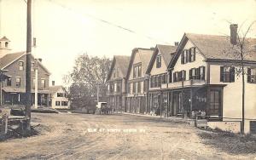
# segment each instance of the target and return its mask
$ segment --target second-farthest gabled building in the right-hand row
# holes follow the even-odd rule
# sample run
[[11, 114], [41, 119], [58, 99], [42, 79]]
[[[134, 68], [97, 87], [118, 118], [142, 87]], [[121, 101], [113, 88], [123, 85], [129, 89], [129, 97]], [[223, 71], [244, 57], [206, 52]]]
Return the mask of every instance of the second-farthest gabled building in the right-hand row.
[[132, 50], [127, 79], [127, 112], [146, 113], [148, 96], [148, 64], [154, 49], [136, 48]]

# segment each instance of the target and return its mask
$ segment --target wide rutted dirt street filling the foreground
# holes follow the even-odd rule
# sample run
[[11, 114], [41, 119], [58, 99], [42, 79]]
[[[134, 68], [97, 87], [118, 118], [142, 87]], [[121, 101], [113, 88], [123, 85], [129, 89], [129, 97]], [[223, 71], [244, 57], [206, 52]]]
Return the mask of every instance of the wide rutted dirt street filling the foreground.
[[0, 142], [0, 159], [254, 159], [207, 146], [185, 123], [130, 115], [33, 113], [40, 134]]

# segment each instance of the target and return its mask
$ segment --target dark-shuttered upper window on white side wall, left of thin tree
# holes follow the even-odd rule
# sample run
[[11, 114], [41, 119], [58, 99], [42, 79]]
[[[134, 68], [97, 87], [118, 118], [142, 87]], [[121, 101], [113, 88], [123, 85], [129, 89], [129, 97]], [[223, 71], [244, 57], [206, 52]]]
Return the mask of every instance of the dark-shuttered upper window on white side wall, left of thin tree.
[[224, 83], [235, 82], [235, 67], [220, 66], [220, 82], [224, 82]]

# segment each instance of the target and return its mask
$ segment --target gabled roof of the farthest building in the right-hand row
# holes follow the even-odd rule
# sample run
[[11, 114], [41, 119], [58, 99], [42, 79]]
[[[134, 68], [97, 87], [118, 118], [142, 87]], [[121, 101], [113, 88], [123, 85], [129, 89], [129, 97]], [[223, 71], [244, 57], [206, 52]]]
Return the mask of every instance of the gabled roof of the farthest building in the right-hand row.
[[115, 64], [118, 64], [118, 65], [119, 65], [119, 71], [121, 71], [122, 74], [123, 74], [124, 76], [126, 76], [130, 59], [131, 59], [130, 56], [126, 56], [126, 55], [114, 55], [114, 56], [113, 56], [113, 60], [112, 60], [111, 67], [110, 67], [110, 69], [109, 69], [109, 71], [108, 71], [107, 81], [110, 79], [110, 77], [111, 77], [111, 75], [112, 75], [113, 67], [115, 66]]

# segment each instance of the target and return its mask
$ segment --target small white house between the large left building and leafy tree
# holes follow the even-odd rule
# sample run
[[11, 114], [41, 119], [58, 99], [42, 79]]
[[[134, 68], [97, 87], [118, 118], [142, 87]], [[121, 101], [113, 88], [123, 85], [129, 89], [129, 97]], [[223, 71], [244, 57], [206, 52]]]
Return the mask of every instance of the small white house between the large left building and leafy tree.
[[70, 109], [67, 91], [63, 86], [50, 86], [50, 106], [55, 109]]

